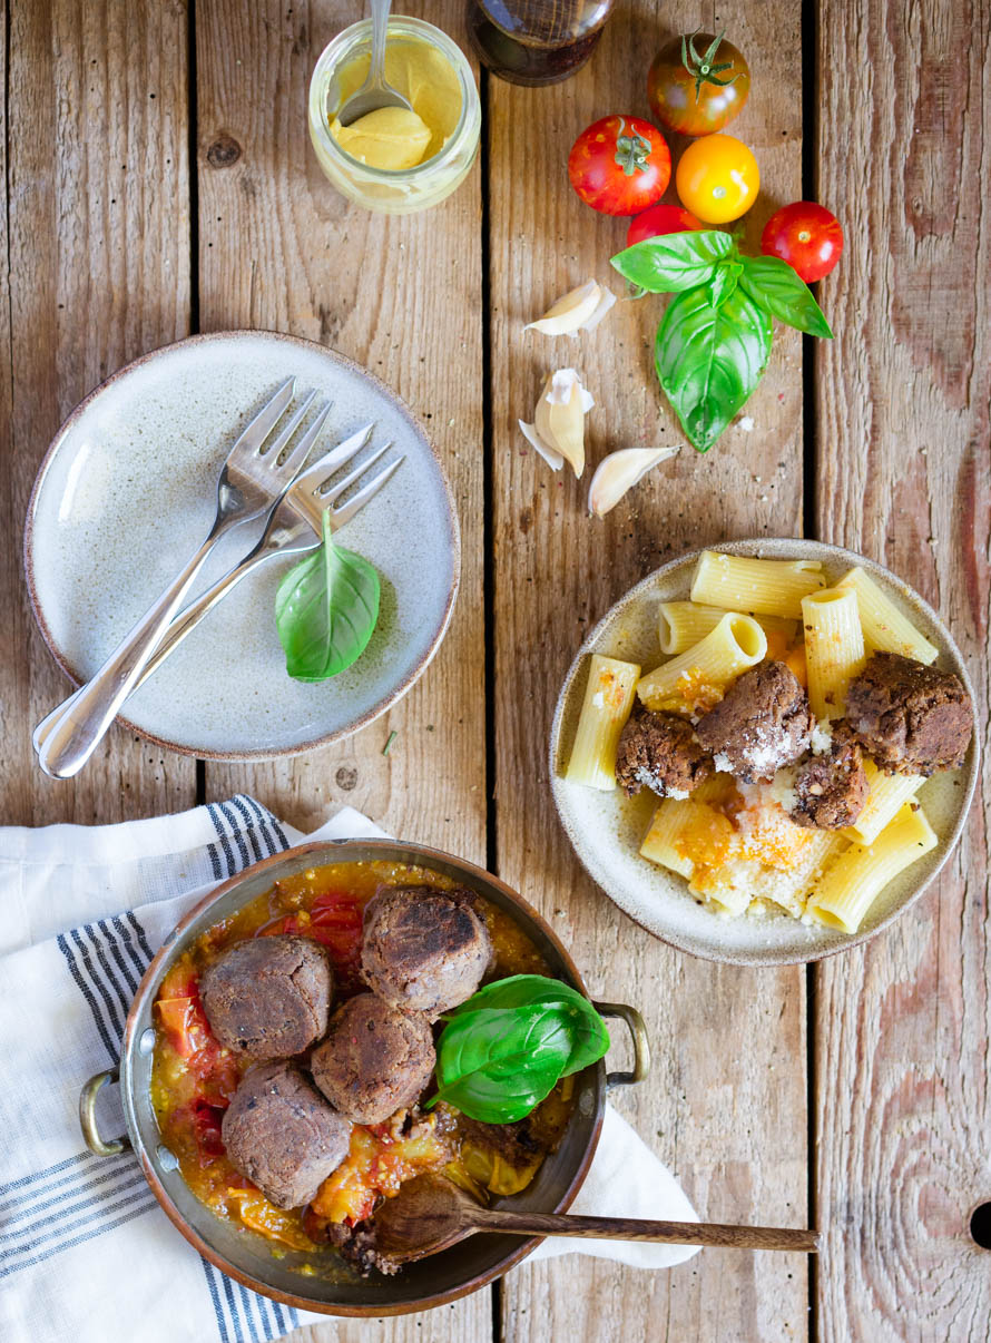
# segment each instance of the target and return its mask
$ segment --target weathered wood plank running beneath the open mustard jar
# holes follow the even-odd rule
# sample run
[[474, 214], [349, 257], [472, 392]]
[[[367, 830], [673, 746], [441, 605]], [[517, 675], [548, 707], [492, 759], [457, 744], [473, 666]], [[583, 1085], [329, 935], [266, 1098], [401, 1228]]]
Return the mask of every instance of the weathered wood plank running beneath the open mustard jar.
[[[465, 39], [462, 5], [404, 7]], [[387, 717], [285, 764], [207, 767], [209, 796], [254, 792], [305, 829], [342, 803], [393, 834], [485, 860], [482, 326], [478, 171], [436, 211], [385, 219], [324, 180], [306, 89], [353, 5], [199, 0], [200, 317], [204, 330], [274, 328], [333, 345], [383, 376], [423, 419], [462, 522], [462, 594], [438, 659]], [[226, 154], [211, 145], [224, 138]], [[230, 152], [230, 141], [239, 153]], [[220, 167], [215, 167], [220, 164]], [[396, 740], [381, 749], [388, 733]], [[481, 1292], [430, 1317], [430, 1338], [487, 1339]], [[332, 1339], [422, 1339], [412, 1319], [340, 1322]]]

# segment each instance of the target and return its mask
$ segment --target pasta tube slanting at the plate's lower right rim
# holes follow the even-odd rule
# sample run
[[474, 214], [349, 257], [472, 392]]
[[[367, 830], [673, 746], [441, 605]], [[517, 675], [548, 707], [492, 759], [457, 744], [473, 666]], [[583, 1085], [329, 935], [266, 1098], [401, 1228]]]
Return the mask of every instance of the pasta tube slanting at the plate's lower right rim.
[[829, 928], [857, 932], [888, 882], [936, 843], [923, 808], [913, 811], [906, 803], [870, 847], [850, 845], [829, 866], [808, 898], [807, 913]]

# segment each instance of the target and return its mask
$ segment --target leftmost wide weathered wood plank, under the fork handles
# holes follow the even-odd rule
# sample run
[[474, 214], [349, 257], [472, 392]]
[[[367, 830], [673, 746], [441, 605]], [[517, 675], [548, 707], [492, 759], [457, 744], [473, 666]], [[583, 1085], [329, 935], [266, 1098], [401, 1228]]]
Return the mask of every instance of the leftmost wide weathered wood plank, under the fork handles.
[[0, 795], [8, 823], [132, 819], [191, 806], [195, 766], [114, 729], [78, 780], [40, 772], [31, 729], [68, 684], [35, 627], [20, 547], [62, 419], [121, 364], [188, 334], [185, 8], [13, 0], [9, 21]]

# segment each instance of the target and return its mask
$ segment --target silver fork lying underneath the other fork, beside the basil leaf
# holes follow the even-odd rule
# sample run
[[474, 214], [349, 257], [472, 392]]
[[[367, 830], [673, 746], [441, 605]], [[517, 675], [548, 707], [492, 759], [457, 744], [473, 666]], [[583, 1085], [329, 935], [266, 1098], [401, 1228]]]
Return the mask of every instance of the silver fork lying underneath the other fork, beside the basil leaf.
[[[282, 496], [278, 505], [270, 514], [269, 525], [266, 526], [265, 535], [258, 545], [255, 545], [239, 564], [224, 575], [224, 577], [219, 579], [211, 588], [199, 596], [196, 602], [185, 607], [179, 612], [179, 615], [175, 616], [165, 631], [161, 643], [141, 672], [132, 693], [133, 690], [137, 690], [138, 686], [144, 685], [145, 681], [158, 670], [161, 663], [176, 651], [183, 639], [185, 639], [185, 637], [196, 629], [200, 620], [214, 610], [218, 602], [220, 602], [231, 591], [231, 588], [240, 583], [240, 580], [254, 568], [273, 555], [291, 555], [301, 551], [316, 549], [316, 547], [320, 545], [322, 516], [325, 512], [329, 514], [332, 530], [336, 532], [338, 528], [344, 526], [345, 522], [349, 522], [357, 513], [360, 513], [365, 504], [368, 504], [368, 501], [373, 498], [395, 475], [406, 461], [404, 457], [397, 458], [395, 462], [389, 462], [389, 465], [384, 470], [379, 471], [373, 479], [363, 485], [346, 504], [341, 504], [337, 508], [333, 506], [344, 492], [355, 485], [356, 481], [364, 475], [368, 467], [375, 465], [375, 462], [377, 462], [379, 458], [388, 451], [392, 446], [389, 442], [361, 462], [356, 470], [350, 471], [332, 489], [321, 490], [321, 486], [328, 482], [329, 477], [345, 466], [368, 443], [368, 439], [372, 435], [372, 424], [365, 424], [364, 428], [357, 430], [357, 432], [352, 434], [350, 438], [338, 443], [337, 447], [332, 449], [305, 471], [299, 473], [290, 489]], [[79, 694], [81, 692], [77, 690], [75, 693]], [[73, 700], [70, 697], [66, 704], [71, 702]], [[56, 723], [63, 710], [64, 705], [59, 705], [54, 713], [50, 713], [47, 719], [43, 719], [42, 723], [38, 724], [34, 735], [36, 751], [40, 751], [46, 737], [51, 732], [52, 725]]]

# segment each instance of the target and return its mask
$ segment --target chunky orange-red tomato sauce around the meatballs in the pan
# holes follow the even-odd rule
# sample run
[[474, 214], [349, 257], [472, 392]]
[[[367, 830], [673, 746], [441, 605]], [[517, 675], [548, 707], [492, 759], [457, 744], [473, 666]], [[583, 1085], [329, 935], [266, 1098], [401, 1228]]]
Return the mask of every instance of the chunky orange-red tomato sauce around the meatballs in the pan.
[[[275, 1207], [234, 1168], [224, 1152], [220, 1124], [250, 1062], [235, 1057], [209, 1030], [199, 995], [200, 975], [235, 941], [298, 933], [326, 947], [334, 967], [334, 1002], [341, 1002], [364, 987], [359, 974], [361, 920], [365, 904], [383, 885], [450, 890], [457, 882], [404, 864], [310, 868], [277, 881], [236, 915], [208, 928], [172, 966], [154, 1002], [150, 1095], [162, 1142], [201, 1202], [218, 1217], [265, 1236], [273, 1248], [317, 1250], [329, 1222], [364, 1221], [383, 1198], [399, 1191], [403, 1180], [422, 1171], [443, 1170], [479, 1198], [517, 1193], [533, 1179], [571, 1117], [573, 1078], [567, 1077], [528, 1121], [538, 1152], [530, 1152], [526, 1163], [506, 1159], [506, 1135], [498, 1133], [497, 1125], [491, 1125], [489, 1143], [490, 1125], [466, 1123], [443, 1103], [424, 1113], [400, 1111], [384, 1124], [356, 1124], [348, 1156], [309, 1209]], [[548, 974], [547, 962], [508, 913], [481, 897], [478, 907], [496, 954], [487, 979]]]

